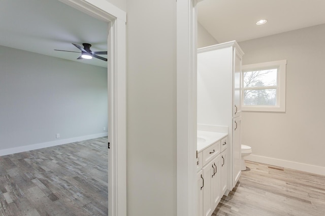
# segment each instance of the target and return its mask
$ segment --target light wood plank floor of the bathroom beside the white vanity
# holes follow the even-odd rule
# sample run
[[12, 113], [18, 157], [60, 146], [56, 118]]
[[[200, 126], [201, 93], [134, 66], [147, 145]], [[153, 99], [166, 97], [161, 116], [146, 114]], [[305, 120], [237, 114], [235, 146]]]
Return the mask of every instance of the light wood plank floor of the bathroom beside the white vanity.
[[246, 166], [212, 215], [325, 215], [325, 176], [251, 161]]

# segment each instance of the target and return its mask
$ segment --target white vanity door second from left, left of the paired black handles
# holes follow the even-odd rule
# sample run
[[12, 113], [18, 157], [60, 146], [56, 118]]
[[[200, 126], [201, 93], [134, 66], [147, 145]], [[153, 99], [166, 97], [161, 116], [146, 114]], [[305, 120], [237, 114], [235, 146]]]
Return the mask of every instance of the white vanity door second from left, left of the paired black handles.
[[212, 179], [215, 174], [213, 160], [208, 162], [202, 169], [204, 187], [203, 187], [203, 215], [210, 216], [213, 212], [212, 206]]

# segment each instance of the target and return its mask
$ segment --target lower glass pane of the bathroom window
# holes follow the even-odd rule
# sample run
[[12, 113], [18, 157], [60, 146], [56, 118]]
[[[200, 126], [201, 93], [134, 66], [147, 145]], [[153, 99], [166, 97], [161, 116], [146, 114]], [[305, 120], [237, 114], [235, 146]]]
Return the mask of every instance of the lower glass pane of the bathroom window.
[[276, 89], [244, 90], [244, 105], [276, 105]]

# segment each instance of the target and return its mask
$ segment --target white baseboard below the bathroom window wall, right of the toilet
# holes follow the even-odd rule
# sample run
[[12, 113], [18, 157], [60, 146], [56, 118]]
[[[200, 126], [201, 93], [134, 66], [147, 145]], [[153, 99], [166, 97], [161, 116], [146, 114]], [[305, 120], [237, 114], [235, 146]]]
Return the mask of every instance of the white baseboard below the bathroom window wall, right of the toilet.
[[245, 160], [250, 160], [250, 161], [259, 162], [259, 163], [266, 163], [266, 164], [270, 164], [270, 165], [274, 165], [274, 166], [281, 166], [284, 168], [296, 169], [296, 170], [300, 170], [300, 171], [310, 172], [312, 174], [318, 174], [318, 175], [325, 176], [325, 167], [323, 167], [323, 166], [315, 166], [315, 165], [310, 165], [310, 164], [306, 164], [306, 163], [281, 160], [281, 159], [258, 156], [258, 155], [253, 155], [253, 154], [246, 156]]

